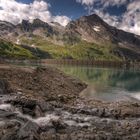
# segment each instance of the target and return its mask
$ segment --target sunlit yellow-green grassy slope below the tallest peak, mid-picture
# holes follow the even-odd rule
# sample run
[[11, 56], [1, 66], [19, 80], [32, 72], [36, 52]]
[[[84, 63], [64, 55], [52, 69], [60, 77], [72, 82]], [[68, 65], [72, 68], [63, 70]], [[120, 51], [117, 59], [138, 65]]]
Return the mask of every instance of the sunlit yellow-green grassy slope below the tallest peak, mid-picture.
[[22, 43], [26, 45], [35, 45], [43, 51], [51, 54], [53, 58], [74, 58], [74, 59], [94, 59], [94, 60], [121, 60], [111, 53], [112, 47], [99, 46], [94, 43], [87, 43], [85, 41], [79, 42], [75, 45], [59, 46], [34, 36], [27, 39], [21, 38]]

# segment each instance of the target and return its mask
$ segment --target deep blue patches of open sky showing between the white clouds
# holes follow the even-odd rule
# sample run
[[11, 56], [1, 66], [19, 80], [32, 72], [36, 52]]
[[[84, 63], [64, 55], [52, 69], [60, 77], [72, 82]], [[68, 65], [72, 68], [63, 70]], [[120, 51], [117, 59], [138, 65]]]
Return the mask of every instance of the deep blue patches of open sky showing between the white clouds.
[[[33, 0], [17, 0], [17, 1], [27, 4], [33, 2]], [[66, 15], [71, 19], [76, 19], [79, 18], [80, 16], [89, 14], [88, 5], [86, 4], [82, 5], [80, 2], [76, 2], [76, 0], [44, 0], [44, 1], [46, 1], [51, 5], [49, 9], [53, 15]], [[111, 15], [120, 16], [126, 11], [125, 4], [126, 3], [120, 6], [113, 5], [106, 7], [104, 9], [104, 12], [108, 12]], [[94, 5], [95, 9], [98, 9], [100, 7], [101, 5], [100, 6]]]

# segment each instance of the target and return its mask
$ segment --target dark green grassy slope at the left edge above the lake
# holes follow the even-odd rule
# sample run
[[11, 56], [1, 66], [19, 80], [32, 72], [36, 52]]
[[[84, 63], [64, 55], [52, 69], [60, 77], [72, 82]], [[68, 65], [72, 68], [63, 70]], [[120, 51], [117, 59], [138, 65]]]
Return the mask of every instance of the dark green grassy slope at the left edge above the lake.
[[0, 39], [0, 57], [34, 58], [30, 51], [2, 39]]

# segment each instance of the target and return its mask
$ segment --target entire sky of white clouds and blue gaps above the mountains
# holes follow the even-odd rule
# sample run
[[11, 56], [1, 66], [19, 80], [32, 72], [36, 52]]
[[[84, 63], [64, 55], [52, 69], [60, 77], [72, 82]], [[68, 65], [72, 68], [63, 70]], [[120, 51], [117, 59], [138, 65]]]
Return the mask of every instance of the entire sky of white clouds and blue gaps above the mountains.
[[39, 18], [66, 26], [84, 15], [140, 35], [140, 0], [0, 0], [0, 20], [13, 24]]

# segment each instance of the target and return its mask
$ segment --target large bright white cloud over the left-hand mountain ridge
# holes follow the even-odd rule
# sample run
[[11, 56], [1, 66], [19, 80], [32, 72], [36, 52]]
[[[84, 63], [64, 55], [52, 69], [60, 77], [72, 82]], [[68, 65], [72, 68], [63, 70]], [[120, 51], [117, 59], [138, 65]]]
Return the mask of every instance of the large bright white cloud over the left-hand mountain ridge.
[[65, 26], [70, 21], [66, 16], [53, 16], [49, 11], [49, 4], [43, 0], [35, 0], [30, 4], [19, 3], [16, 0], [0, 0], [0, 20], [13, 24], [20, 23], [23, 19], [33, 21], [39, 18], [45, 22], [58, 22]]

